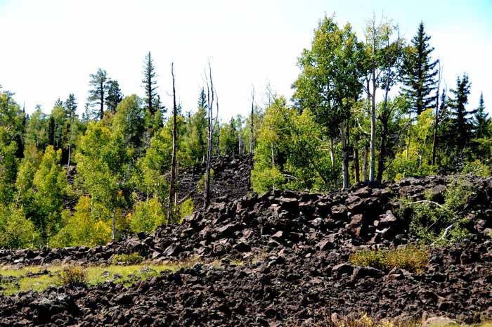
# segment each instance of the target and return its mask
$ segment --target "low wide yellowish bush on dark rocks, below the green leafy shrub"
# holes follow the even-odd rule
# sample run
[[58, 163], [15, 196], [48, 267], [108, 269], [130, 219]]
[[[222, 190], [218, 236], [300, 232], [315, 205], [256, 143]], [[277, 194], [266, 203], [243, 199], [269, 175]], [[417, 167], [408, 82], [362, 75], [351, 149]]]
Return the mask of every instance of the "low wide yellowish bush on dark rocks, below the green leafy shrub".
[[350, 262], [357, 266], [374, 267], [382, 270], [393, 268], [410, 272], [421, 271], [427, 265], [429, 252], [416, 245], [396, 250], [358, 250], [350, 256]]

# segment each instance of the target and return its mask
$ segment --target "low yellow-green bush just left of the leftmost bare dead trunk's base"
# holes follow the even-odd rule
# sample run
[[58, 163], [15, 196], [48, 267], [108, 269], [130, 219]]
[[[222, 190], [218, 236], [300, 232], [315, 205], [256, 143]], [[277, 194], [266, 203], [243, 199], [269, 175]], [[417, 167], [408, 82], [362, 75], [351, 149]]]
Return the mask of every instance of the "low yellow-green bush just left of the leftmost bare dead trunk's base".
[[131, 214], [130, 229], [134, 233], [153, 232], [157, 226], [166, 222], [166, 212], [157, 198], [136, 203], [135, 212]]

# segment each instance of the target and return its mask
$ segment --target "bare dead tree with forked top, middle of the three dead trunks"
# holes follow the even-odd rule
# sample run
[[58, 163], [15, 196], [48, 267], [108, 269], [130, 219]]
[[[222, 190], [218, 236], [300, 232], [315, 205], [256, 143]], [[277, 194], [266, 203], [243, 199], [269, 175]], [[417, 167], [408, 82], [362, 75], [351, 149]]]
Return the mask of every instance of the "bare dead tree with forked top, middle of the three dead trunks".
[[[212, 67], [209, 62], [209, 75], [205, 72], [205, 82], [207, 84], [207, 110], [208, 110], [208, 137], [207, 137], [207, 169], [205, 170], [205, 187], [203, 191], [203, 203], [205, 207], [210, 204], [210, 169], [212, 167], [212, 147], [215, 125], [219, 117], [219, 98], [216, 98], [214, 82], [212, 80]], [[214, 118], [214, 101], [216, 102], [216, 115]]]

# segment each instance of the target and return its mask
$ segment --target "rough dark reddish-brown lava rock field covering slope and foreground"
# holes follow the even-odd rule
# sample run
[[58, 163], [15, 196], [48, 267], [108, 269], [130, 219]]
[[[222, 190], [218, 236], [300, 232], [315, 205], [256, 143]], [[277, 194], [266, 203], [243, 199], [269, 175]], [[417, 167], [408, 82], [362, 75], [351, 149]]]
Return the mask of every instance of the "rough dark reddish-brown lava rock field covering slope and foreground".
[[[109, 262], [140, 252], [156, 262], [204, 263], [123, 288], [51, 288], [0, 296], [0, 326], [316, 326], [329, 309], [378, 318], [492, 318], [492, 179], [474, 178], [472, 237], [433, 248], [424, 271], [354, 267], [357, 248], [396, 248], [415, 240], [399, 218], [399, 196], [439, 198], [448, 177], [404, 179], [330, 194], [274, 191], [216, 198], [177, 226], [94, 249], [0, 251], [3, 264]], [[216, 260], [217, 265], [206, 264]], [[233, 260], [241, 260], [235, 265]]]

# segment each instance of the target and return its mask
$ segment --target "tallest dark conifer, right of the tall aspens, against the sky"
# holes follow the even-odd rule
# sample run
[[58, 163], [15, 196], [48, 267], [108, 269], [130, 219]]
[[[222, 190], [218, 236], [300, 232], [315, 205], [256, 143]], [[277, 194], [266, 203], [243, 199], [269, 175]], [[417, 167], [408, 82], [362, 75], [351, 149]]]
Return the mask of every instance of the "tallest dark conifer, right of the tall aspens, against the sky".
[[403, 84], [406, 86], [403, 92], [410, 99], [410, 110], [417, 115], [427, 108], [434, 108], [436, 101], [432, 93], [436, 89], [436, 65], [439, 60], [431, 60], [434, 48], [429, 46], [430, 38], [421, 22], [411, 46], [406, 49], [403, 64]]

